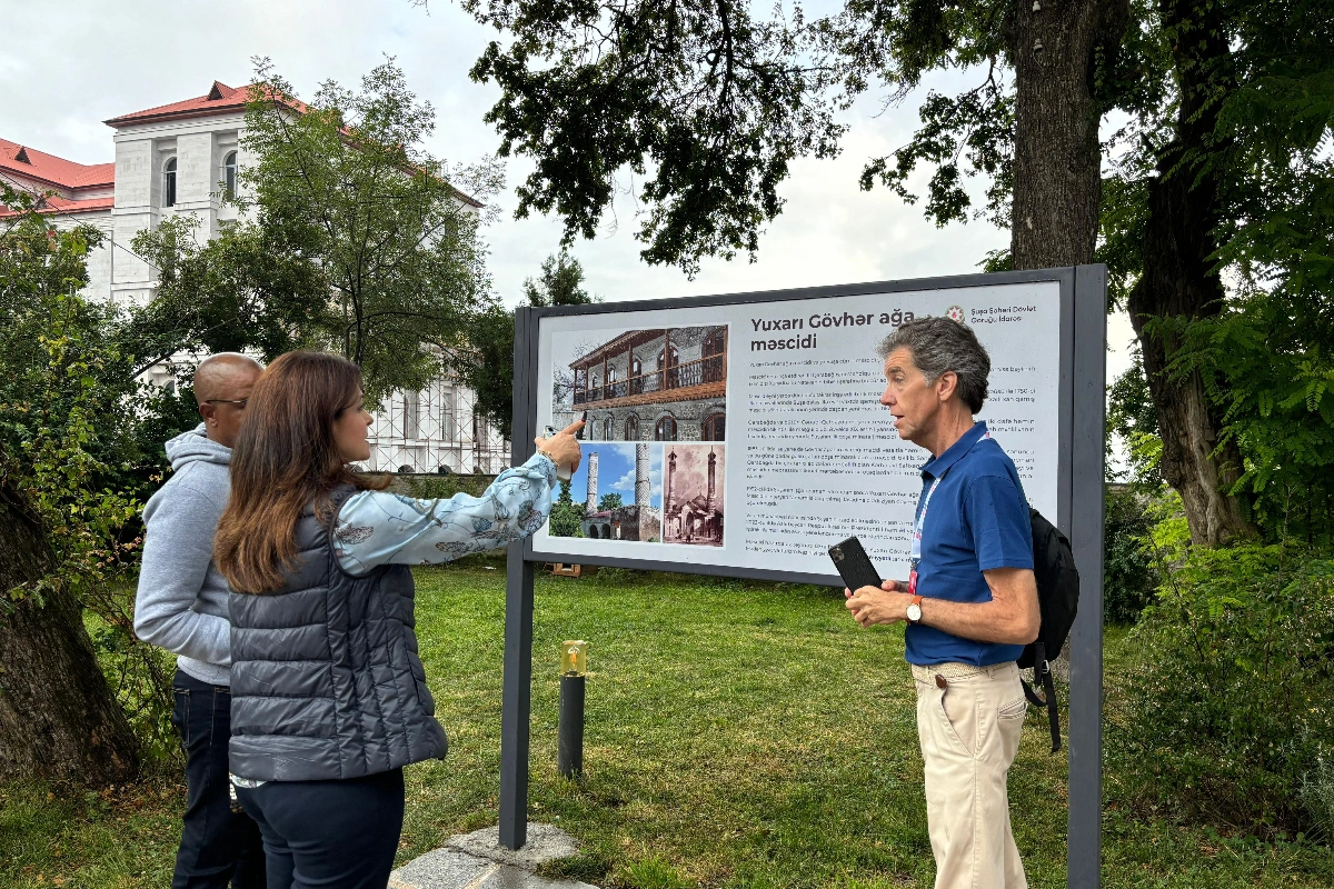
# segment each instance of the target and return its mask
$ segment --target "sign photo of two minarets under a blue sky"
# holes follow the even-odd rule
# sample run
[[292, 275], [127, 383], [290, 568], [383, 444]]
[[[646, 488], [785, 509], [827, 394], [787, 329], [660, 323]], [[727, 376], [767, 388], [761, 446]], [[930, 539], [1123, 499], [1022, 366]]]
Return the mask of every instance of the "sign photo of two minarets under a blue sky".
[[551, 510], [552, 537], [660, 542], [663, 449], [587, 443], [579, 470]]

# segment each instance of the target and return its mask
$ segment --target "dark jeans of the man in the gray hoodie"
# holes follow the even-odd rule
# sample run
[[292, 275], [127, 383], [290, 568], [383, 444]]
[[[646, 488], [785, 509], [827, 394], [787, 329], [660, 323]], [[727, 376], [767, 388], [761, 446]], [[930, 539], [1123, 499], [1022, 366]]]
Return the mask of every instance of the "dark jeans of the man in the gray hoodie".
[[232, 812], [227, 742], [232, 737], [232, 693], [176, 670], [172, 724], [185, 746], [185, 824], [172, 889], [263, 889], [264, 849], [259, 828]]

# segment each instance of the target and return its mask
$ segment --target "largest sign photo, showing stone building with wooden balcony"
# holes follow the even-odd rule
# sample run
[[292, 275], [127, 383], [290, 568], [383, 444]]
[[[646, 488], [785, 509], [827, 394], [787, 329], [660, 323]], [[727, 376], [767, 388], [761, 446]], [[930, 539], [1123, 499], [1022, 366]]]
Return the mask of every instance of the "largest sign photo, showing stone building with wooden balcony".
[[587, 441], [723, 441], [727, 325], [552, 337], [552, 423]]

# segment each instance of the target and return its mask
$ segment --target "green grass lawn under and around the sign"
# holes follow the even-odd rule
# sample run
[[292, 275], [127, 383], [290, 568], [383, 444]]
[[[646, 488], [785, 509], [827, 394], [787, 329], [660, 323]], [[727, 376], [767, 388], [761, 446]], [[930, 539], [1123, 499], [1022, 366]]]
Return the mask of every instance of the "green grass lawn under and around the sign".
[[[496, 822], [504, 570], [423, 569], [419, 640], [446, 762], [408, 769], [400, 862]], [[583, 781], [556, 774], [559, 644], [590, 642]], [[900, 629], [859, 629], [840, 597], [603, 570], [539, 577], [531, 818], [583, 853], [543, 873], [603, 886], [931, 885], [912, 682]], [[1107, 678], [1133, 657], [1109, 634]], [[1031, 713], [1010, 778], [1035, 888], [1065, 885], [1063, 756]], [[165, 886], [183, 788], [65, 798], [0, 789], [0, 885]], [[1334, 853], [1110, 809], [1105, 885], [1334, 886]]]

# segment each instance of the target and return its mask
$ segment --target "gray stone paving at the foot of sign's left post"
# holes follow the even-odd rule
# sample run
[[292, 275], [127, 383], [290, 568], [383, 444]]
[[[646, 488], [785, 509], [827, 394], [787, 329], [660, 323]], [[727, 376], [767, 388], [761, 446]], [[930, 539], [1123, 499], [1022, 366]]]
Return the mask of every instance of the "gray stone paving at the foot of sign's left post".
[[518, 852], [503, 848], [499, 837], [498, 828], [450, 837], [448, 845], [391, 873], [388, 889], [598, 889], [532, 873], [539, 864], [578, 852], [560, 828], [530, 824], [528, 842]]

